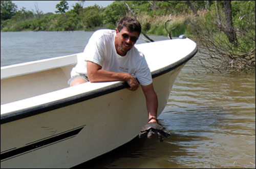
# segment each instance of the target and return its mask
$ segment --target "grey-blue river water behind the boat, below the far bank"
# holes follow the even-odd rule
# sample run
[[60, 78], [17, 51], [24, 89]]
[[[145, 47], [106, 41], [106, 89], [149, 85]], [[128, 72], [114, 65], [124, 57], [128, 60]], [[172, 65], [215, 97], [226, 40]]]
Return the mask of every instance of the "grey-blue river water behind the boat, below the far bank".
[[[1, 32], [1, 67], [83, 52], [92, 34], [84, 31]], [[144, 43], [143, 35], [137, 43]]]

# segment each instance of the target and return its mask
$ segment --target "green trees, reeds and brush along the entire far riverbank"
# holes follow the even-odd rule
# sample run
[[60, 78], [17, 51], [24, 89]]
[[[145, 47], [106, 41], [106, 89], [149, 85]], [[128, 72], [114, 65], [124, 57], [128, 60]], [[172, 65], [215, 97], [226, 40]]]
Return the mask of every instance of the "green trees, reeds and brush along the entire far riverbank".
[[144, 33], [167, 36], [171, 32], [172, 37], [185, 34], [195, 40], [205, 54], [200, 62], [205, 68], [211, 65], [210, 71], [255, 69], [255, 1], [231, 1], [237, 45], [231, 44], [221, 29], [226, 26], [225, 1], [115, 1], [105, 8], [84, 8], [83, 3], [79, 1], [68, 11], [68, 3], [61, 1], [56, 5], [57, 14], [41, 15], [38, 10], [17, 11], [11, 1], [1, 1], [1, 31], [115, 29], [121, 17], [131, 15], [127, 4]]

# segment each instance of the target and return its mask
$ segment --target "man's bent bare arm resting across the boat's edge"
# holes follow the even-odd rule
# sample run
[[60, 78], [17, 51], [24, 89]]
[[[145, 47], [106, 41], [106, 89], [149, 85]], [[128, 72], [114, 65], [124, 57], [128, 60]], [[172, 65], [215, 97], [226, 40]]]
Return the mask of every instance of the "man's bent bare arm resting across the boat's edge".
[[129, 73], [118, 73], [111, 72], [107, 70], [101, 69], [101, 66], [93, 63], [91, 61], [87, 61], [87, 75], [88, 79], [91, 82], [99, 82], [99, 81], [126, 81], [130, 88], [127, 88], [131, 91], [135, 91], [139, 87], [139, 83], [132, 75]]

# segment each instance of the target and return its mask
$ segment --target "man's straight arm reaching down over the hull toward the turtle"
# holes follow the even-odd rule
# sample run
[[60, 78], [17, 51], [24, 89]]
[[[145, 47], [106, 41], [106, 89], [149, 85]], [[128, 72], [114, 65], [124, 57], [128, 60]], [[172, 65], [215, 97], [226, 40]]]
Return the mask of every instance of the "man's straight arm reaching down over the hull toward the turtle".
[[142, 91], [146, 98], [146, 107], [148, 112], [148, 119], [154, 118], [150, 120], [150, 123], [157, 123], [157, 108], [158, 108], [158, 99], [157, 94], [154, 90], [153, 84], [148, 86], [141, 86]]

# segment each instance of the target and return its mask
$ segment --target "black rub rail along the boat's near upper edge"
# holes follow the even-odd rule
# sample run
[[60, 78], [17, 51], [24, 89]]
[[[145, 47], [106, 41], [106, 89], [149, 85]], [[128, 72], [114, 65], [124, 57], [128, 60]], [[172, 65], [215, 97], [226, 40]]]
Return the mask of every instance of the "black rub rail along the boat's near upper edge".
[[[196, 45], [195, 49], [193, 51], [191, 51], [188, 55], [186, 55], [185, 57], [183, 57], [181, 60], [170, 64], [166, 67], [163, 67], [161, 69], [155, 70], [153, 71], [152, 74], [152, 78], [158, 77], [162, 74], [165, 74], [167, 72], [170, 72], [174, 69], [176, 69], [177, 67], [185, 64], [186, 62], [188, 62], [191, 58], [194, 57], [194, 55], [197, 53], [198, 51], [198, 46]], [[23, 119], [23, 118], [27, 118], [30, 116], [34, 116], [34, 115], [38, 115], [47, 111], [51, 111], [54, 109], [58, 109], [61, 107], [65, 107], [65, 106], [69, 106], [72, 104], [76, 104], [82, 101], [86, 101], [89, 99], [93, 99], [105, 94], [109, 94], [112, 92], [116, 92], [119, 90], [122, 90], [124, 88], [129, 88], [129, 85], [127, 84], [127, 82], [123, 82], [120, 81], [118, 83], [115, 83], [113, 85], [110, 86], [106, 86], [104, 88], [95, 90], [95, 91], [91, 91], [91, 92], [87, 92], [87, 93], [82, 93], [76, 96], [72, 96], [72, 97], [68, 97], [62, 100], [57, 100], [57, 101], [53, 101], [53, 102], [49, 102], [49, 103], [44, 103], [38, 106], [34, 106], [34, 107], [29, 107], [29, 108], [25, 108], [25, 109], [21, 109], [21, 110], [16, 110], [13, 112], [9, 112], [7, 114], [3, 114], [1, 115], [1, 124], [4, 123], [8, 123], [8, 122], [12, 122], [15, 120], [19, 120], [19, 119]]]

